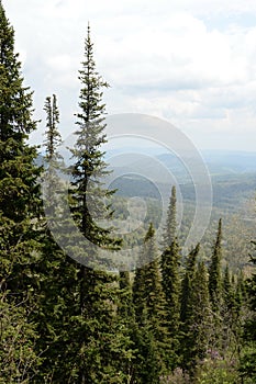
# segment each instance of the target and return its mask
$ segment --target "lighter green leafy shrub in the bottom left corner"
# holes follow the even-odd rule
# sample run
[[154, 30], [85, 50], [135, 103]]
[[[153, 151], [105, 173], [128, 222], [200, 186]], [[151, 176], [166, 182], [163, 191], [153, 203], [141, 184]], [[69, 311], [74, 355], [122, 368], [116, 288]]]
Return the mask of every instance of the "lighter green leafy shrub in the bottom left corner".
[[29, 383], [41, 372], [43, 358], [36, 325], [32, 324], [26, 301], [11, 303], [11, 292], [0, 292], [0, 383]]

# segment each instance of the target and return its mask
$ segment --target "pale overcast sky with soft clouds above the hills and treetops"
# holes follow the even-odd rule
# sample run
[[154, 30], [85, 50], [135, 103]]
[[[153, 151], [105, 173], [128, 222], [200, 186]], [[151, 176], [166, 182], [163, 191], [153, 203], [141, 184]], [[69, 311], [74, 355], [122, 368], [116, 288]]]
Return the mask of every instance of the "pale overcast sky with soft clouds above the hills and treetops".
[[200, 149], [256, 151], [255, 0], [3, 0], [25, 84], [35, 91], [32, 142], [46, 95], [60, 131], [75, 127], [87, 23], [109, 114], [146, 113]]

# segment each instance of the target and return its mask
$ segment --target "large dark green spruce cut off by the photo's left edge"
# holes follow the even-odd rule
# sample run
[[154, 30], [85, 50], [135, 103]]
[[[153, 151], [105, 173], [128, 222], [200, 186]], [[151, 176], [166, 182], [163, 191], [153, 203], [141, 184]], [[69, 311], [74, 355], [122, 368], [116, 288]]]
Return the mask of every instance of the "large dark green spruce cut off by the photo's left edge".
[[31, 315], [36, 310], [41, 212], [36, 149], [26, 139], [35, 128], [32, 92], [23, 86], [14, 30], [0, 1], [0, 317], [1, 379], [29, 382], [41, 363]]

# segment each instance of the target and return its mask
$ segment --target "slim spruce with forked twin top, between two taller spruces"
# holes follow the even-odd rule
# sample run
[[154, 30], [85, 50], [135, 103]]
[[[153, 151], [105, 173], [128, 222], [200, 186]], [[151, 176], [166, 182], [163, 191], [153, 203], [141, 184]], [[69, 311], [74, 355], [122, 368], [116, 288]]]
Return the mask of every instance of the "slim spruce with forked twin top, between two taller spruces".
[[[58, 153], [62, 136], [58, 131], [59, 112], [57, 98], [47, 97], [46, 132], [44, 146], [44, 212], [41, 219], [41, 259], [35, 273], [40, 276], [38, 312], [34, 316], [40, 335], [36, 349], [42, 357], [37, 383], [45, 381], [74, 382], [76, 380], [77, 350], [79, 342], [75, 337], [78, 326], [76, 316], [79, 305], [77, 296], [78, 266], [56, 244], [52, 230], [58, 223], [67, 226], [58, 200], [67, 199], [58, 171], [63, 169], [63, 158]], [[56, 221], [58, 217], [58, 221]], [[62, 352], [59, 352], [62, 351]]]

